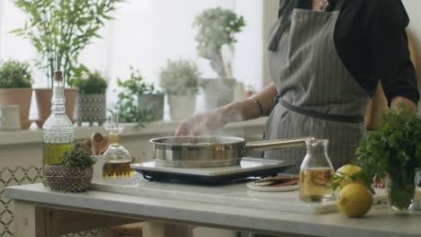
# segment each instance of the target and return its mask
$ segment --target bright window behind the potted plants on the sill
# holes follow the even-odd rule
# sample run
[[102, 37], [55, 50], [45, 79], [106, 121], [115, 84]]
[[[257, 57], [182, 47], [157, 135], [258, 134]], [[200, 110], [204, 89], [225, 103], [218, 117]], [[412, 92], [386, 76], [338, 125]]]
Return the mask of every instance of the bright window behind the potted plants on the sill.
[[[149, 81], [158, 84], [158, 71], [166, 59], [184, 57], [200, 66], [203, 77], [214, 77], [208, 61], [197, 56], [192, 24], [202, 10], [221, 6], [246, 19], [244, 31], [237, 35], [234, 75], [237, 81], [260, 89], [264, 75], [263, 4], [255, 0], [130, 0], [120, 4], [114, 13], [116, 19], [100, 31], [103, 39], [95, 39], [85, 48], [80, 60], [103, 72], [110, 81], [109, 106], [116, 101], [115, 81], [129, 75], [129, 66], [139, 68]], [[0, 1], [0, 59], [33, 62], [37, 57], [28, 40], [9, 33], [22, 27], [25, 17], [12, 0]], [[45, 87], [43, 72], [33, 71], [34, 87]], [[36, 117], [34, 113], [32, 108], [31, 117]]]

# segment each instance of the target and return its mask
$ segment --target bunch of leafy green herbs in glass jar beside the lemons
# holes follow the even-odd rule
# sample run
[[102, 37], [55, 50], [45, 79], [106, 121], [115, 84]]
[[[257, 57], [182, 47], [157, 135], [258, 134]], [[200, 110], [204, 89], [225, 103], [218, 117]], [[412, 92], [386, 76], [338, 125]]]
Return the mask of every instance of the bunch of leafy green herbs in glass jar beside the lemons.
[[387, 176], [392, 212], [410, 213], [421, 167], [421, 118], [403, 107], [383, 115], [380, 127], [363, 137], [356, 162], [369, 187], [374, 176]]

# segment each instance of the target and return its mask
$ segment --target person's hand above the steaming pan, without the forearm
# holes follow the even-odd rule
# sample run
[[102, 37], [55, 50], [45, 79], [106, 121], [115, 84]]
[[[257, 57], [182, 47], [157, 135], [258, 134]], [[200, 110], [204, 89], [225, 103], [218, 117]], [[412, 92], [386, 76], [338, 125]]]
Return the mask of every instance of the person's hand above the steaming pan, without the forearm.
[[227, 124], [223, 110], [216, 109], [185, 119], [175, 130], [175, 136], [198, 136], [208, 134]]

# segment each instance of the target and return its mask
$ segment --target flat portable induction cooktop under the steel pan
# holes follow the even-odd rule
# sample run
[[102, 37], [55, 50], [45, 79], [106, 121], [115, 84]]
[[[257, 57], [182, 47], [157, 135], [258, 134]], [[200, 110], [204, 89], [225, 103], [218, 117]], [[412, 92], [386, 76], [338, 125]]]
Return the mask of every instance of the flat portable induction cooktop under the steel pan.
[[159, 166], [152, 161], [131, 164], [131, 169], [141, 173], [147, 180], [181, 180], [216, 184], [248, 177], [275, 176], [293, 165], [295, 165], [294, 162], [245, 157], [241, 159], [239, 165], [227, 167], [172, 168]]

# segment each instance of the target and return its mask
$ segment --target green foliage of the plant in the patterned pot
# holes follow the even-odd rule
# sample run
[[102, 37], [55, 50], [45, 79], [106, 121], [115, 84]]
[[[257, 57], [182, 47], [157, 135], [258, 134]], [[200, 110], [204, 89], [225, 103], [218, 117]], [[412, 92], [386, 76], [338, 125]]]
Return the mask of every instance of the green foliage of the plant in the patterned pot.
[[108, 83], [98, 71], [89, 71], [85, 66], [77, 70], [72, 84], [79, 88], [80, 94], [105, 93]]

